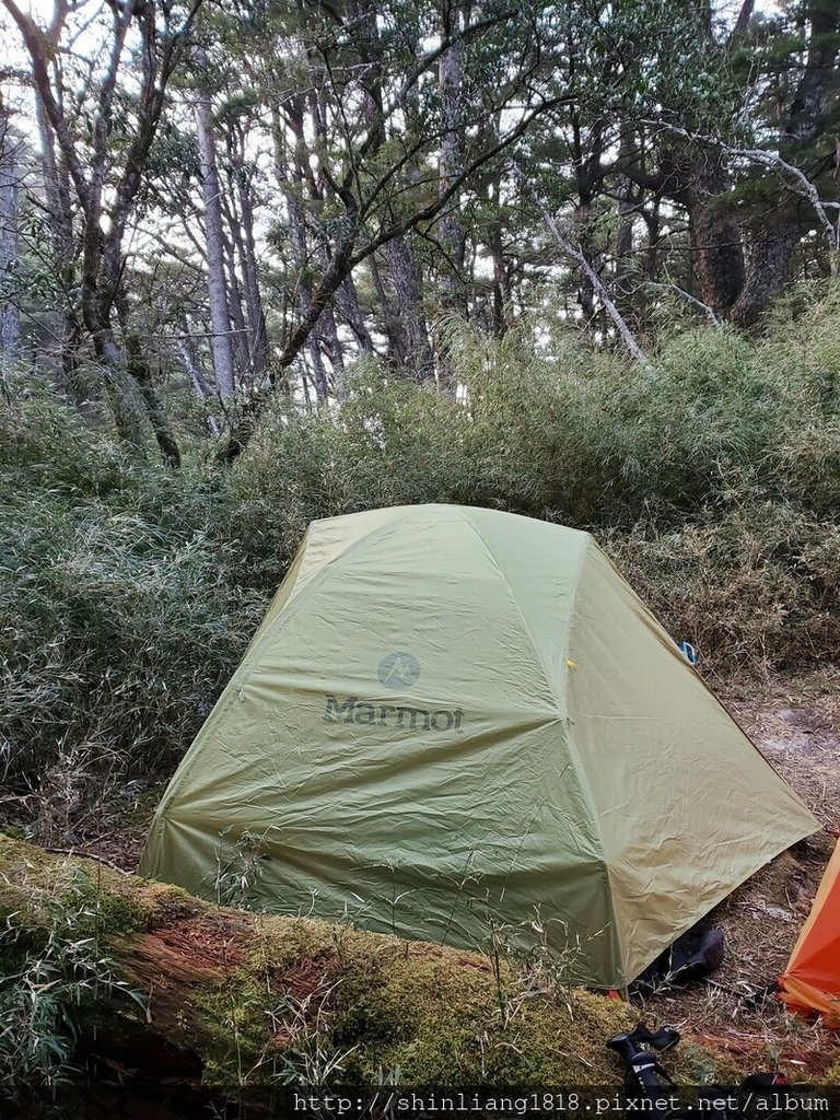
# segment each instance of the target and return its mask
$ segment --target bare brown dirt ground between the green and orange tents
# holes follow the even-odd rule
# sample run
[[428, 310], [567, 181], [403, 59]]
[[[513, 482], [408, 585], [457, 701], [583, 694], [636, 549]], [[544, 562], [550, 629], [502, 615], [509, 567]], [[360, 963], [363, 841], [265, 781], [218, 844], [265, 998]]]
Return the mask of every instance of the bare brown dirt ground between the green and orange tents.
[[724, 963], [711, 982], [635, 1002], [645, 1015], [754, 1068], [819, 1082], [840, 1058], [840, 1033], [791, 1015], [773, 996], [750, 997], [784, 970], [838, 842], [840, 679], [768, 681], [763, 694], [721, 699], [824, 831], [784, 852], [710, 915], [726, 936]]

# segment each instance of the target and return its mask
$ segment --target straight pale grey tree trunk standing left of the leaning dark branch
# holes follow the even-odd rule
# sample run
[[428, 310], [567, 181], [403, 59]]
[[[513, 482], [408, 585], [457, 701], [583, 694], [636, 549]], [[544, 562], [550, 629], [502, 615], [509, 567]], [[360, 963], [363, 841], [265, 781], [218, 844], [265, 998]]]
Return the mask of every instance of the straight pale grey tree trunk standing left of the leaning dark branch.
[[[195, 52], [195, 60], [203, 65], [205, 53]], [[204, 226], [207, 239], [207, 297], [209, 302], [211, 352], [216, 390], [222, 398], [236, 392], [236, 377], [231, 340], [231, 311], [227, 302], [227, 279], [225, 276], [224, 227], [222, 223], [222, 198], [216, 161], [216, 138], [213, 131], [209, 94], [198, 88], [195, 103], [198, 152], [202, 164], [202, 197], [204, 200]]]

